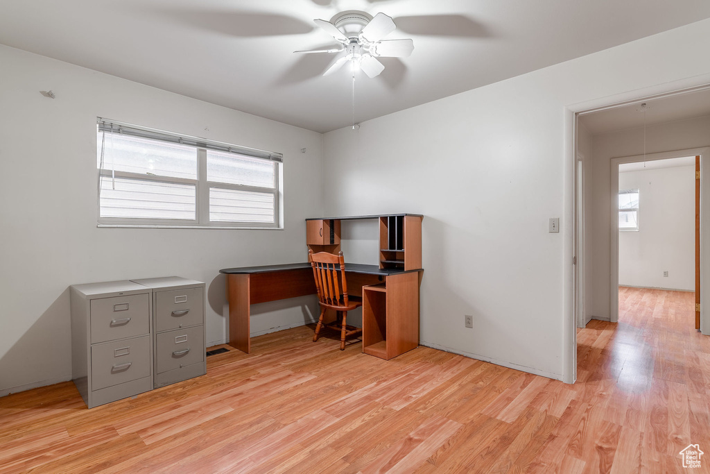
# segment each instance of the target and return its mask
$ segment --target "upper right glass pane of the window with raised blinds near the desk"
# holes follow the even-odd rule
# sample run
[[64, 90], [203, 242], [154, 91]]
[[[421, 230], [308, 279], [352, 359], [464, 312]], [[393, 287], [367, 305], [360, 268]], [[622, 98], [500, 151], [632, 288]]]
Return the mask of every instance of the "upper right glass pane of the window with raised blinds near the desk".
[[275, 171], [273, 161], [207, 150], [207, 181], [213, 183], [273, 189], [276, 182]]

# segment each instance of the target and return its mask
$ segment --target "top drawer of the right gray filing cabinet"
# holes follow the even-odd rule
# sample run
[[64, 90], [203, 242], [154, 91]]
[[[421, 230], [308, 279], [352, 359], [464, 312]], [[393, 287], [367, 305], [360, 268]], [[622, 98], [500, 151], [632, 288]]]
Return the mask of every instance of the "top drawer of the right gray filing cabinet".
[[202, 288], [155, 293], [155, 331], [158, 333], [202, 324], [203, 314]]

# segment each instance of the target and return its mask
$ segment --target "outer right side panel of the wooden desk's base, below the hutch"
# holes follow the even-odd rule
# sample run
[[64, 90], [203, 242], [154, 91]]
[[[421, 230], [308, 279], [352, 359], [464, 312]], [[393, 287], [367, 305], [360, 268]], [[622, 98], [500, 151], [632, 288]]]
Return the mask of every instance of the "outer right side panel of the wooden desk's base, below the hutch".
[[387, 277], [387, 358], [419, 345], [419, 274]]

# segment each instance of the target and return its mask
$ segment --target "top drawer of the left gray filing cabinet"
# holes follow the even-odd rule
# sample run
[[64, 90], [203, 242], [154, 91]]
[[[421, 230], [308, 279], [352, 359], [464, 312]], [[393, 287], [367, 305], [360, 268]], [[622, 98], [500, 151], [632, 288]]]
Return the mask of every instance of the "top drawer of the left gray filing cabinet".
[[150, 332], [150, 294], [114, 296], [91, 301], [91, 342], [131, 338]]

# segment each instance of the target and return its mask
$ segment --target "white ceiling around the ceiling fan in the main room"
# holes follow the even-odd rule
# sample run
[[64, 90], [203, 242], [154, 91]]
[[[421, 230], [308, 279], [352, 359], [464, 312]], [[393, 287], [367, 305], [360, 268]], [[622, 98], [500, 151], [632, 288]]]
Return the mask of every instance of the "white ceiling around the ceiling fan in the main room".
[[312, 20], [346, 10], [415, 44], [358, 75], [361, 122], [709, 18], [710, 1], [0, 0], [0, 43], [324, 132], [351, 124], [349, 71], [293, 50], [333, 45]]

